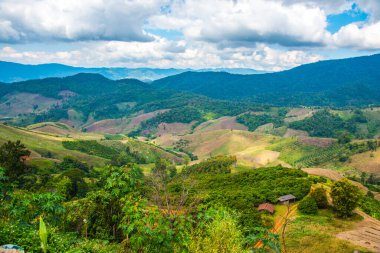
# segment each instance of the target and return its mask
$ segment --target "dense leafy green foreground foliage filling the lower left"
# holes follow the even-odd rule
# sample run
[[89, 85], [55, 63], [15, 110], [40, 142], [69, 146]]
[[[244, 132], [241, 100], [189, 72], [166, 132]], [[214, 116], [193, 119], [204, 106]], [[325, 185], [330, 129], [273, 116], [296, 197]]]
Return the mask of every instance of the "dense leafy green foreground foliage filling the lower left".
[[[252, 208], [264, 197], [252, 193], [260, 182], [277, 197], [278, 189], [268, 184], [272, 174], [286, 178], [281, 194], [292, 189], [301, 196], [309, 181], [303, 172], [284, 168], [233, 175], [226, 168], [234, 162], [233, 157], [216, 157], [198, 173], [178, 174], [172, 162], [158, 159], [151, 173], [144, 175], [133, 163], [95, 169], [65, 157], [52, 167], [22, 171], [17, 182], [0, 167], [0, 244], [14, 243], [28, 252], [237, 253], [249, 252], [262, 240], [265, 247], [279, 252], [278, 237], [262, 227], [260, 214]], [[197, 178], [200, 174], [206, 177]], [[244, 184], [247, 175], [250, 182]], [[222, 180], [216, 188], [215, 177]], [[291, 178], [300, 181], [290, 185]], [[203, 189], [212, 192], [201, 202], [193, 197], [186, 200], [188, 189], [183, 187], [189, 180], [200, 180], [201, 187], [191, 190], [193, 197], [207, 181]], [[238, 191], [241, 200], [251, 202], [234, 198], [231, 188], [225, 196], [229, 200], [218, 200], [215, 194], [222, 193], [225, 180], [250, 189], [247, 194]]]

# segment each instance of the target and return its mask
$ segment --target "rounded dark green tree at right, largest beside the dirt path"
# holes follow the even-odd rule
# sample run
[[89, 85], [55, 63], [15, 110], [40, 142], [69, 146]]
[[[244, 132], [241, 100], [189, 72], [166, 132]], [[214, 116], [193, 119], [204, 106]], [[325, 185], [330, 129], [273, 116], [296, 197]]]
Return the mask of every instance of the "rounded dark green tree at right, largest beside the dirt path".
[[333, 184], [331, 187], [331, 197], [334, 210], [338, 216], [347, 218], [352, 216], [353, 211], [358, 206], [361, 193], [358, 187], [344, 178]]

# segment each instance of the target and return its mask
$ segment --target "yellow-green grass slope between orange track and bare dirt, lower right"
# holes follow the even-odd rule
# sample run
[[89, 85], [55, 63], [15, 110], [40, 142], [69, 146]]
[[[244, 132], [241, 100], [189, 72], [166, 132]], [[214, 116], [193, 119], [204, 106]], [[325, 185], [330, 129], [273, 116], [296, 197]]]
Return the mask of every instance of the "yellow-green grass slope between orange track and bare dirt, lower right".
[[286, 233], [288, 252], [346, 253], [354, 252], [355, 249], [360, 252], [370, 252], [335, 236], [339, 232], [352, 229], [356, 222], [358, 222], [357, 217], [352, 220], [335, 218], [331, 210], [320, 210], [315, 216], [298, 215], [288, 225]]

